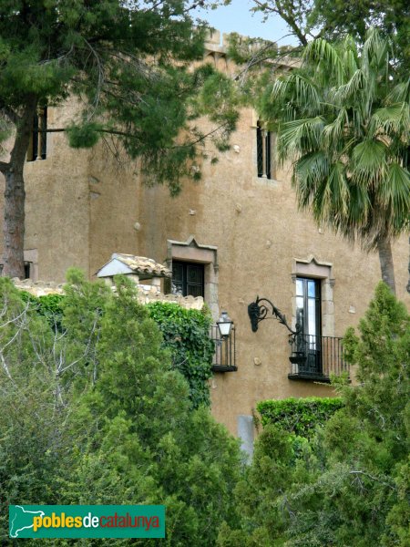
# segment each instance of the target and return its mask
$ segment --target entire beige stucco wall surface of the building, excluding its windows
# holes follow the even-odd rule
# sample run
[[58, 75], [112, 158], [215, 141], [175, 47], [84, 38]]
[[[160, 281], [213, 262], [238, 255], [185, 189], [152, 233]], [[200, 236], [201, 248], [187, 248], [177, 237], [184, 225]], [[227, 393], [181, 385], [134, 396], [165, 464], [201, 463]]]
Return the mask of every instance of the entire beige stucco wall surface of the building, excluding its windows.
[[[223, 52], [218, 46], [214, 50], [218, 55], [210, 60], [231, 72]], [[61, 127], [75, 112], [74, 102], [50, 108], [49, 127]], [[294, 261], [313, 256], [332, 265], [328, 328], [343, 335], [364, 314], [380, 279], [375, 254], [319, 231], [307, 214], [297, 212], [289, 168], [276, 170], [272, 181], [257, 178], [255, 125], [253, 111], [244, 109], [231, 150], [220, 154], [215, 165], [212, 153], [199, 158], [202, 181], [185, 181], [177, 198], [170, 198], [166, 188], [141, 186], [136, 162], [118, 164], [102, 144], [70, 150], [60, 133], [49, 136], [46, 160], [26, 164], [25, 248], [37, 253], [40, 279], [61, 282], [72, 265], [92, 277], [114, 252], [163, 263], [169, 258], [169, 240], [187, 242], [192, 235], [217, 249], [218, 267], [207, 266], [213, 268], [211, 289], [218, 290], [219, 309], [213, 312], [226, 309], [235, 322], [238, 371], [214, 375], [212, 411], [234, 434], [238, 416], [251, 415], [261, 399], [332, 395], [330, 387], [288, 379], [285, 327], [263, 321], [252, 333], [248, 304], [259, 294], [292, 320]], [[206, 148], [212, 152], [210, 143]], [[405, 236], [395, 243], [394, 253], [397, 293], [410, 307]]]

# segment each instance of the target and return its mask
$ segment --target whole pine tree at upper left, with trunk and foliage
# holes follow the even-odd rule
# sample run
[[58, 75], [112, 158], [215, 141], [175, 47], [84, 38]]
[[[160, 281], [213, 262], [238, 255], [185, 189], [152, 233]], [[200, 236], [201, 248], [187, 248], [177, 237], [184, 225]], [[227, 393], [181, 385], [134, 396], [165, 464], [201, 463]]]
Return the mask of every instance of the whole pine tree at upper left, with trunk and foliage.
[[208, 114], [214, 124], [210, 139], [226, 147], [237, 113], [234, 100], [225, 100], [229, 80], [198, 63], [206, 29], [194, 25], [195, 5], [0, 4], [0, 137], [11, 139], [10, 160], [0, 161], [6, 181], [4, 275], [23, 276], [24, 165], [37, 108], [77, 98], [67, 126], [52, 130], [67, 132], [75, 148], [103, 138], [120, 157], [125, 152], [140, 158], [145, 181], [167, 184], [172, 194], [183, 177], [199, 177], [192, 168], [200, 167], [195, 158], [205, 135], [195, 119]]

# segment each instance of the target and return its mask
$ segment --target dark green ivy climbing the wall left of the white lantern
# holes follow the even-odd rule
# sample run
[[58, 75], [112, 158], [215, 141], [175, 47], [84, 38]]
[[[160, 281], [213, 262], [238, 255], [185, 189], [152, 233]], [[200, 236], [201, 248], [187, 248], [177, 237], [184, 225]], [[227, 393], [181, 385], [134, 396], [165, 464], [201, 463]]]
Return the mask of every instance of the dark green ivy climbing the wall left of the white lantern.
[[148, 304], [149, 315], [159, 325], [172, 362], [188, 380], [192, 408], [210, 406], [211, 364], [215, 351], [210, 340], [211, 317], [208, 311], [186, 310], [178, 304]]

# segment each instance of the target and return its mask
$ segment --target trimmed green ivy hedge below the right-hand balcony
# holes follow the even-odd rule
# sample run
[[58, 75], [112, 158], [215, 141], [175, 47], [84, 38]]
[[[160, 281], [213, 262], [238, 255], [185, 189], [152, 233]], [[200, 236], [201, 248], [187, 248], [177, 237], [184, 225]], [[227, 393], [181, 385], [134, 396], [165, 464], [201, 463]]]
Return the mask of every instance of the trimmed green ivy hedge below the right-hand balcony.
[[258, 403], [261, 423], [276, 424], [279, 428], [310, 439], [314, 430], [323, 427], [336, 410], [344, 406], [341, 397], [289, 397], [267, 400]]

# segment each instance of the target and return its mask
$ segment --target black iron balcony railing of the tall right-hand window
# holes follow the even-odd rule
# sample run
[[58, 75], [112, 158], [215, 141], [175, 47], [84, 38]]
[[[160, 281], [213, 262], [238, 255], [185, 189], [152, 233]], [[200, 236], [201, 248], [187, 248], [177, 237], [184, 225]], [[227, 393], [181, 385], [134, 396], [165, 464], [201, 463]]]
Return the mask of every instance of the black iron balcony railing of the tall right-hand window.
[[292, 380], [330, 382], [330, 377], [349, 371], [343, 360], [343, 338], [336, 336], [290, 335]]

